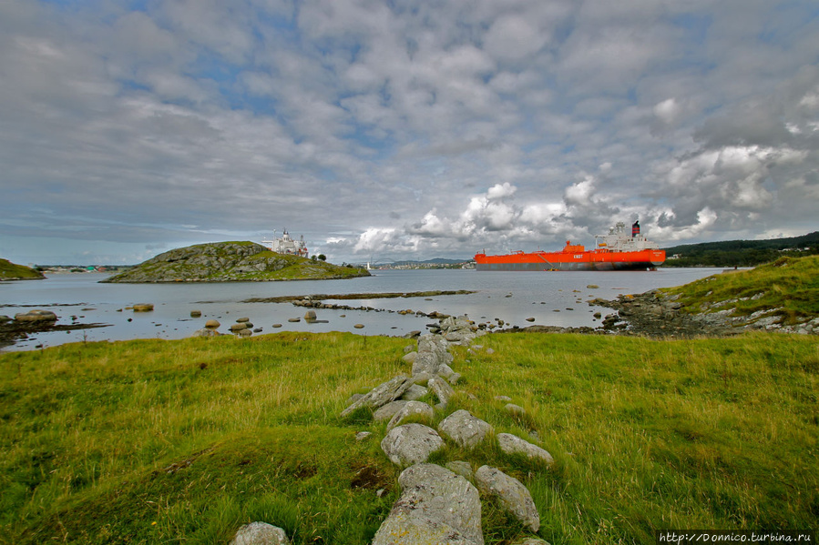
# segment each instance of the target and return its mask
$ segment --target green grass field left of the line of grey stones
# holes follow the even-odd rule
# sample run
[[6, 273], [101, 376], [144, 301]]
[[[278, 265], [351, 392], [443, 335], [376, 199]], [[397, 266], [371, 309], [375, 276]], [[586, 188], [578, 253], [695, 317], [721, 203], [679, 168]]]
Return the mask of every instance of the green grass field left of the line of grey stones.
[[[0, 536], [226, 541], [270, 511], [296, 542], [366, 542], [339, 536], [374, 533], [391, 500], [351, 483], [369, 467], [392, 487], [394, 471], [336, 415], [394, 374], [401, 346], [284, 334], [7, 354]], [[363, 522], [345, 530], [348, 518]]]

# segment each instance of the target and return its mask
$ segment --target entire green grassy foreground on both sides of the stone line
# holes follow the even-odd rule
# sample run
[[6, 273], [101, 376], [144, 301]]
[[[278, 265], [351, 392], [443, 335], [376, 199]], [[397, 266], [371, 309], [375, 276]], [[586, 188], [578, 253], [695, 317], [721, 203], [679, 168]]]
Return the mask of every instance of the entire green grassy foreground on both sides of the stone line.
[[[457, 348], [455, 402], [534, 432], [543, 469], [495, 447], [435, 461], [523, 480], [557, 543], [655, 529], [816, 530], [819, 342], [507, 334]], [[294, 543], [368, 543], [398, 496], [345, 399], [409, 367], [353, 334], [77, 343], [0, 356], [0, 542], [226, 543], [251, 520]], [[492, 348], [490, 352], [487, 348]], [[495, 400], [527, 409], [514, 419]], [[357, 442], [359, 430], [375, 439]], [[531, 436], [529, 436], [531, 437]], [[384, 490], [379, 497], [378, 490]], [[487, 543], [527, 535], [484, 503]]]

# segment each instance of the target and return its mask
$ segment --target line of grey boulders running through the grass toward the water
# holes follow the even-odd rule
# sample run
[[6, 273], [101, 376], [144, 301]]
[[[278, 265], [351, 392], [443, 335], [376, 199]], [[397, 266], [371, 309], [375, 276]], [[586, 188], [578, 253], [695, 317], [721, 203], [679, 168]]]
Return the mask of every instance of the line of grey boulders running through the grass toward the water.
[[[358, 409], [368, 408], [374, 410], [375, 420], [388, 419], [387, 434], [381, 441], [381, 448], [390, 461], [405, 468], [398, 478], [401, 496], [375, 533], [373, 545], [483, 545], [478, 490], [496, 498], [498, 504], [528, 530], [537, 532], [540, 527], [537, 507], [531, 493], [519, 480], [487, 465], [473, 472], [466, 461], [450, 461], [445, 467], [426, 463], [433, 452], [445, 446], [441, 435], [461, 447], [473, 449], [494, 435], [490, 424], [463, 409], [442, 420], [438, 431], [423, 424], [402, 424], [411, 417], [431, 420], [435, 409], [446, 409], [455, 394], [453, 386], [460, 379], [460, 375], [449, 366], [453, 357], [448, 346], [469, 346], [475, 338], [484, 334], [466, 317], [444, 318], [435, 330], [435, 334], [418, 338], [417, 350], [404, 355], [404, 360], [412, 363], [412, 377], [399, 375], [367, 394], [353, 395], [348, 400], [350, 405], [340, 415], [345, 418]], [[471, 349], [479, 348], [473, 346]], [[418, 400], [429, 391], [438, 400], [435, 409]], [[507, 410], [521, 412], [524, 409], [508, 404]], [[359, 432], [356, 439], [364, 440], [370, 435], [371, 432]], [[496, 439], [500, 449], [508, 454], [522, 453], [541, 460], [547, 467], [554, 463], [546, 450], [515, 435], [499, 433]], [[242, 526], [231, 541], [231, 545], [287, 543], [289, 541], [282, 529], [264, 522]], [[544, 543], [547, 542], [528, 538], [520, 545]]]

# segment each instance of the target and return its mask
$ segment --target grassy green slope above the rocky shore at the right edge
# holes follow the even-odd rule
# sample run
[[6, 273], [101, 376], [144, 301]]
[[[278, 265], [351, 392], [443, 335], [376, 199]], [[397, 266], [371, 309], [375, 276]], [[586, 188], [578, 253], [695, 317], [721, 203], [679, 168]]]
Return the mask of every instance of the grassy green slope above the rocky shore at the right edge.
[[[663, 291], [692, 312], [732, 309], [733, 316], [774, 311], [783, 323], [819, 315], [819, 256], [781, 257], [751, 270], [702, 278]], [[722, 303], [713, 306], [714, 303]]]

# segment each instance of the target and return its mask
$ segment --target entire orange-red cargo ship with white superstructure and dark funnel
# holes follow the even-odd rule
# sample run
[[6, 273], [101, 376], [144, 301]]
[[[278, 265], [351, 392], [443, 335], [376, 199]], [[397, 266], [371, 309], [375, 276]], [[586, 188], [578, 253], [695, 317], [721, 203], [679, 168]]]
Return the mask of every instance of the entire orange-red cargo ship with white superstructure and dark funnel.
[[587, 250], [566, 241], [559, 252], [524, 252], [518, 250], [502, 256], [475, 255], [477, 270], [653, 270], [665, 261], [665, 250], [646, 237], [640, 237], [640, 222], [631, 226], [619, 222], [609, 235], [595, 237], [597, 247]]

